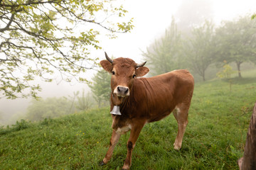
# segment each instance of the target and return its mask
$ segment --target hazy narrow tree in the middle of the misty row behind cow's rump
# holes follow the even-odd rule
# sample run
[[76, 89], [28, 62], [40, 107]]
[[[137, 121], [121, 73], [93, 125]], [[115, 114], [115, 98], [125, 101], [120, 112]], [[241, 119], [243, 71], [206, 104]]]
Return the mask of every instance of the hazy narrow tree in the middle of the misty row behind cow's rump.
[[206, 69], [216, 56], [216, 42], [213, 23], [206, 21], [203, 26], [193, 28], [191, 38], [184, 47], [186, 61], [196, 74], [206, 81]]

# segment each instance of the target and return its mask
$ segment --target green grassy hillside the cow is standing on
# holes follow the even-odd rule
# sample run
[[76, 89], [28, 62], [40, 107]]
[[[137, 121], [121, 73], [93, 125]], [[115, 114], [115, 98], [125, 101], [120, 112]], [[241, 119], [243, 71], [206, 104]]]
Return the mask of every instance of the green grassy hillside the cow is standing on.
[[[133, 152], [132, 169], [238, 169], [256, 102], [256, 79], [196, 84], [189, 123], [178, 152], [173, 115], [145, 125]], [[123, 135], [109, 164], [109, 108], [40, 123], [20, 121], [0, 129], [1, 169], [122, 169], [129, 137]]]

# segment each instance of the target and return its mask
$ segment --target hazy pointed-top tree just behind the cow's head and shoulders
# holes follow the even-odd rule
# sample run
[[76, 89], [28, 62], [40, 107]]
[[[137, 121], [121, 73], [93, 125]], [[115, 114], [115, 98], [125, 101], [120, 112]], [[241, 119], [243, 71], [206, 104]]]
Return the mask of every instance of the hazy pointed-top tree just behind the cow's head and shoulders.
[[181, 34], [172, 18], [171, 26], [166, 29], [162, 38], [155, 40], [154, 44], [146, 48], [143, 52], [144, 60], [151, 66], [152, 75], [170, 72], [173, 69], [181, 68], [182, 57]]

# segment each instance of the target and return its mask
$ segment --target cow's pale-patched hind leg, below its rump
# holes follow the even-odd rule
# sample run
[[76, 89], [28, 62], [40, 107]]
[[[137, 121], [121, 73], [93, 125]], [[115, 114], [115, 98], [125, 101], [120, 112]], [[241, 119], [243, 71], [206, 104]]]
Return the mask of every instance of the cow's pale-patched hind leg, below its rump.
[[181, 104], [174, 110], [174, 117], [178, 123], [178, 134], [174, 142], [174, 149], [176, 150], [181, 149], [183, 135], [186, 130], [186, 125], [188, 125], [188, 109], [188, 105]]

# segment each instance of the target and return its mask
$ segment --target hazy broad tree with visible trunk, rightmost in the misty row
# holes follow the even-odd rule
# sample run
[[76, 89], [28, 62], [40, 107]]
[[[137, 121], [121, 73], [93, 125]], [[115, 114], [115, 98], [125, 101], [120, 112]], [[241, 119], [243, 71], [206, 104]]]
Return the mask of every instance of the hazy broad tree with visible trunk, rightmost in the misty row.
[[238, 77], [242, 77], [240, 66], [243, 62], [255, 62], [256, 21], [243, 16], [234, 21], [225, 21], [216, 30], [218, 35], [218, 62], [235, 62]]

